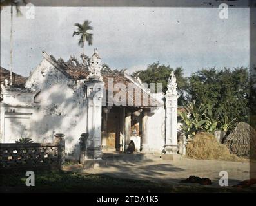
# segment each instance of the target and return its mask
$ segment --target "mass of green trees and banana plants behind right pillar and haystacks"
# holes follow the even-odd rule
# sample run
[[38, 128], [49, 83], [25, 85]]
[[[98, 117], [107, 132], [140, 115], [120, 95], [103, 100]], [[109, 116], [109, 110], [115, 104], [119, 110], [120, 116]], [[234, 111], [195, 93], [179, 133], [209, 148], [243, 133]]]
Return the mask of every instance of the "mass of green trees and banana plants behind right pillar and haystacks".
[[133, 73], [133, 77], [140, 77], [147, 84], [162, 83], [165, 92], [171, 71], [175, 73], [181, 94], [178, 104], [186, 109], [186, 113], [179, 114], [187, 136], [199, 131], [213, 133], [216, 129], [230, 131], [237, 122], [248, 122], [250, 110], [254, 114], [251, 117], [256, 117], [253, 109], [256, 106], [256, 89], [252, 78], [249, 78], [248, 68], [202, 69], [184, 77], [182, 68], [173, 70], [155, 62], [146, 70]]

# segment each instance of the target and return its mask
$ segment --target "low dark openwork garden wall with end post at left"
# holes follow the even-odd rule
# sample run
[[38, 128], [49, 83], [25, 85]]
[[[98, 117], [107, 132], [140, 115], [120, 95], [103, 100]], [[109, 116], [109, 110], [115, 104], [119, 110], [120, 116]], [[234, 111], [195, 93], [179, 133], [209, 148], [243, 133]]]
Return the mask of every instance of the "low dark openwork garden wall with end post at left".
[[56, 135], [52, 143], [0, 144], [0, 173], [61, 169], [65, 155], [63, 136]]

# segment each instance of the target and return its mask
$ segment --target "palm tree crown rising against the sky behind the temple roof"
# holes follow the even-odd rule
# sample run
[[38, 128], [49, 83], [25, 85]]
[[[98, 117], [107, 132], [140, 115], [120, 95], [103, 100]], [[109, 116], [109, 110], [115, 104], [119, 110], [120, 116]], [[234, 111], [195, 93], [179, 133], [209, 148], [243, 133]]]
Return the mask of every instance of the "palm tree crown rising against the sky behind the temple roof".
[[88, 33], [88, 30], [93, 30], [93, 27], [90, 26], [90, 21], [85, 20], [83, 24], [75, 23], [75, 26], [77, 26], [77, 30], [73, 32], [74, 35], [79, 35], [80, 39], [78, 42], [78, 45], [83, 48], [83, 54], [84, 54], [84, 43], [88, 42], [88, 45], [92, 45], [92, 33]]

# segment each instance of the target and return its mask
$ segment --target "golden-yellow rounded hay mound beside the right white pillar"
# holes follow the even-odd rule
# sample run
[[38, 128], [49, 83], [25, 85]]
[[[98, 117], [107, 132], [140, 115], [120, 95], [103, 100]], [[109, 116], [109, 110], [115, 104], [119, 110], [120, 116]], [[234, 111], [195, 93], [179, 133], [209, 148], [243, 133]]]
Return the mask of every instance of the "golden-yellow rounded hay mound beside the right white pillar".
[[193, 140], [186, 145], [187, 156], [189, 158], [204, 160], [240, 160], [235, 154], [219, 142], [215, 136], [209, 133], [197, 133]]

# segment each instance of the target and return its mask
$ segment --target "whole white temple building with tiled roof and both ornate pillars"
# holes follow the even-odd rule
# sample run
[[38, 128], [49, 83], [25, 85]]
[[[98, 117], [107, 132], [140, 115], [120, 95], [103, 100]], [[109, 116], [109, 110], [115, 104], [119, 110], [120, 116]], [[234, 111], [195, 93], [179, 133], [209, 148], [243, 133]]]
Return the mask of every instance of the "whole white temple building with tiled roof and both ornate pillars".
[[152, 93], [124, 70], [102, 64], [97, 49], [92, 57], [68, 61], [43, 52], [43, 60], [28, 78], [1, 68], [0, 142], [19, 138], [52, 142], [63, 133], [66, 155], [79, 158], [86, 134], [88, 157], [104, 151], [177, 153], [177, 93], [173, 73], [168, 91]]

